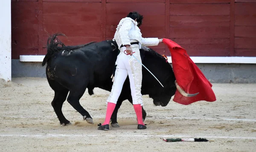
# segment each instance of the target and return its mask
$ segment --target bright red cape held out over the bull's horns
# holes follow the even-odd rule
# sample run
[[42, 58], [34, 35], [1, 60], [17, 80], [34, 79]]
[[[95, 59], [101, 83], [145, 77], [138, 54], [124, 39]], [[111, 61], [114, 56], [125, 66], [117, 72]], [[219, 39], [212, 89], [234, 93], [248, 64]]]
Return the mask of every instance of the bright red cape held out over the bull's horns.
[[190, 59], [184, 48], [170, 39], [163, 39], [172, 56], [172, 68], [175, 74], [177, 84], [190, 94], [198, 93], [193, 97], [182, 96], [178, 90], [175, 92], [173, 101], [179, 104], [192, 104], [196, 101], [216, 101], [212, 90], [212, 84], [206, 79], [197, 65]]

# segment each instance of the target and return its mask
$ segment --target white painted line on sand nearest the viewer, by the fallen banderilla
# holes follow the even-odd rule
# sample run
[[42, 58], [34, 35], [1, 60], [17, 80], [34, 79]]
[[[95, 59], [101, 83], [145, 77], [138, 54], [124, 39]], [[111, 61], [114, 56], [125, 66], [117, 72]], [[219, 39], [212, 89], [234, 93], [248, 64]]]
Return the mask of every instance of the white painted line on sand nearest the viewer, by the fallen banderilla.
[[[49, 138], [49, 137], [165, 137], [165, 138], [197, 138], [189, 135], [77, 135], [77, 134], [45, 134], [45, 135], [14, 135], [2, 134], [0, 137], [30, 137], [30, 138]], [[199, 137], [198, 137], [199, 138]], [[227, 137], [227, 136], [203, 136], [200, 138], [229, 138], [229, 139], [256, 139], [256, 137]]]

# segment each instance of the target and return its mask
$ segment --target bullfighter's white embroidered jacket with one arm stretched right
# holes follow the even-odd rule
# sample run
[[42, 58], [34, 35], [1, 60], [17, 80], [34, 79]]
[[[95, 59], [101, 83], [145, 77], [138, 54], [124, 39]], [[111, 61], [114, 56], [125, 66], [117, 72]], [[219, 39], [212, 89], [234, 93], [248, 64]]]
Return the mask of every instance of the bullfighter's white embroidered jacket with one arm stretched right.
[[121, 45], [131, 45], [131, 42], [139, 42], [139, 49], [141, 46], [154, 46], [159, 44], [158, 38], [143, 38], [140, 28], [130, 17], [125, 17], [120, 20], [116, 28], [113, 41], [116, 41], [120, 50]]

